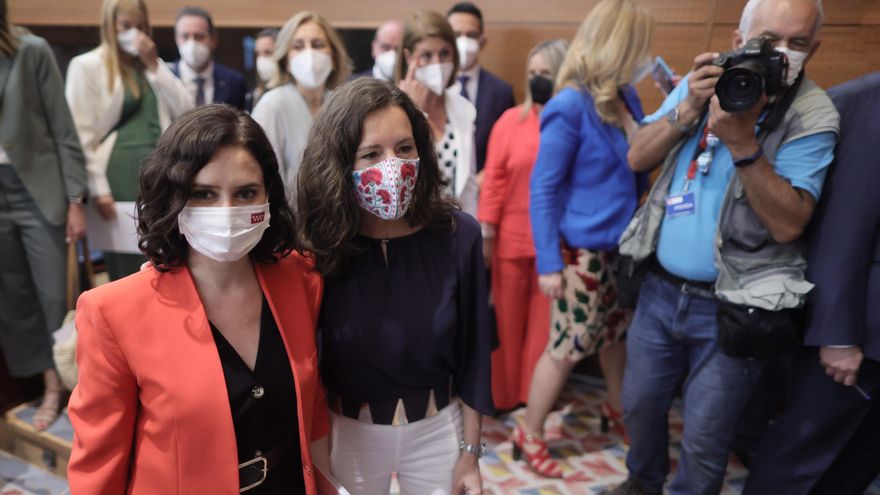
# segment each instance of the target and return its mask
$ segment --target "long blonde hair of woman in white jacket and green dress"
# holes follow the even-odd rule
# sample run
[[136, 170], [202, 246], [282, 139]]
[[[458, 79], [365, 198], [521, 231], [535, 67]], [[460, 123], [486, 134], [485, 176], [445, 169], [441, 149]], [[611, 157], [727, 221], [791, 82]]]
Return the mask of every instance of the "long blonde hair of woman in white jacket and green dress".
[[118, 75], [122, 83], [135, 96], [140, 97], [141, 88], [135, 78], [136, 66], [120, 61], [119, 44], [116, 41], [116, 16], [122, 12], [138, 12], [144, 18], [147, 35], [152, 35], [147, 5], [143, 0], [104, 0], [101, 5], [101, 48], [104, 49], [104, 66], [107, 68], [107, 87], [113, 91]]

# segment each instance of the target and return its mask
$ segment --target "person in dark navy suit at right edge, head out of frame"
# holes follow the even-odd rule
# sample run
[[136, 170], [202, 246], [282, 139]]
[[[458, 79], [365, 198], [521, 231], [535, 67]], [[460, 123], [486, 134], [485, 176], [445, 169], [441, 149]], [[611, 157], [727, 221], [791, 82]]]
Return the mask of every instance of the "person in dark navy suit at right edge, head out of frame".
[[744, 494], [861, 494], [880, 471], [880, 72], [828, 94], [840, 141], [810, 234], [806, 347]]

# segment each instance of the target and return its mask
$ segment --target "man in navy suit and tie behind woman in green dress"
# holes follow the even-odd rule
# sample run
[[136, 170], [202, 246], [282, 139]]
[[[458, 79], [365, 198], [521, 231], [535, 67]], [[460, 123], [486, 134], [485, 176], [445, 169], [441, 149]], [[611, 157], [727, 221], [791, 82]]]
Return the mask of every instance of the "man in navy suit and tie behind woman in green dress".
[[174, 39], [180, 60], [171, 65], [171, 70], [192, 92], [196, 105], [227, 103], [243, 110], [247, 94], [244, 76], [211, 59], [217, 47], [211, 14], [200, 7], [178, 10]]

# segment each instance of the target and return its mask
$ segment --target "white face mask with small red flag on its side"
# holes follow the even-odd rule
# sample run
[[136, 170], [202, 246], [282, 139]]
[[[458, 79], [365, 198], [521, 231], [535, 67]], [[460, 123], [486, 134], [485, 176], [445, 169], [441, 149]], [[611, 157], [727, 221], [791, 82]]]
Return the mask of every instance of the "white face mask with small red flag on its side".
[[187, 206], [177, 226], [190, 247], [220, 262], [238, 261], [269, 227], [269, 203], [254, 206]]

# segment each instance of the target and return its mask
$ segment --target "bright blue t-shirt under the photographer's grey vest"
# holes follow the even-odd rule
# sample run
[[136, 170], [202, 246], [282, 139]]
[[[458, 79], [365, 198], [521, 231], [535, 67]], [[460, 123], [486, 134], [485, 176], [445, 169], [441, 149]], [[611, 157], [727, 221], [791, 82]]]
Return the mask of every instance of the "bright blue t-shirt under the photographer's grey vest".
[[[666, 97], [663, 105], [645, 117], [642, 123], [650, 124], [665, 118], [687, 95], [688, 78], [685, 77]], [[706, 120], [700, 123], [697, 132], [684, 143], [678, 153], [669, 195], [683, 192], [687, 169], [703, 135]], [[836, 140], [833, 132], [820, 132], [785, 143], [779, 148], [773, 167], [792, 186], [809, 192], [818, 201], [825, 172], [834, 158]], [[724, 143], [719, 142], [714, 148], [709, 173], [703, 175], [698, 172], [688, 189], [694, 193], [694, 213], [675, 217], [666, 215], [660, 224], [657, 259], [663, 268], [689, 280], [712, 282], [718, 277], [718, 269], [715, 267], [715, 233], [721, 202], [734, 169], [730, 151]]]

